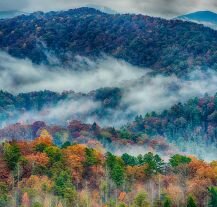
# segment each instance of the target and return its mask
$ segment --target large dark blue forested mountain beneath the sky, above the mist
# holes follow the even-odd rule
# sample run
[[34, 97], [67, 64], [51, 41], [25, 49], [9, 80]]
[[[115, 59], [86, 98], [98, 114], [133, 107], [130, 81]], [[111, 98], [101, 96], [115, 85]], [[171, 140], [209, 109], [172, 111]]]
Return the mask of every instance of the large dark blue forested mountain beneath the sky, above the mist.
[[[143, 15], [109, 15], [91, 8], [37, 12], [0, 21], [0, 49], [34, 63], [50, 54], [121, 58], [156, 72], [183, 76], [195, 66], [216, 67], [217, 32], [202, 25]], [[48, 55], [49, 54], [49, 57]]]

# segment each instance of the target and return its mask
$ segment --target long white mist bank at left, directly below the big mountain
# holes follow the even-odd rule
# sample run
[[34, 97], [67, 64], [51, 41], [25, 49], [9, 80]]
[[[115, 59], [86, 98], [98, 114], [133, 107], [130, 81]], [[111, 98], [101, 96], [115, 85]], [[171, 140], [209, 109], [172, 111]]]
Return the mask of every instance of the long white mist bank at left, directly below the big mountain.
[[96, 62], [77, 57], [72, 68], [50, 68], [0, 52], [0, 88], [12, 93], [45, 89], [89, 92], [102, 87], [120, 86], [123, 81], [137, 79], [145, 73], [142, 69], [109, 57]]

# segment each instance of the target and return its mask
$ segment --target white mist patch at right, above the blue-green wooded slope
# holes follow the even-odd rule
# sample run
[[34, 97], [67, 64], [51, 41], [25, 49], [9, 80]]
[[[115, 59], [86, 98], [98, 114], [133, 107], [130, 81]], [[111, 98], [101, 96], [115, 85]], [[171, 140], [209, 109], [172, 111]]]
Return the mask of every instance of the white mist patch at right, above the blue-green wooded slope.
[[196, 70], [187, 80], [172, 76], [145, 75], [134, 83], [124, 97], [129, 110], [144, 114], [167, 109], [178, 102], [185, 102], [192, 97], [202, 97], [205, 93], [217, 92], [217, 72]]

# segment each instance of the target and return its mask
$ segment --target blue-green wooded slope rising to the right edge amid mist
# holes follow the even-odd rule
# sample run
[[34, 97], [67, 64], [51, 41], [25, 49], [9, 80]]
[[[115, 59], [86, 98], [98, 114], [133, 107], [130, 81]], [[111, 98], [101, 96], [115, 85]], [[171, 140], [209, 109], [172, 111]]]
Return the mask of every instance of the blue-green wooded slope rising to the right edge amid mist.
[[[186, 103], [178, 103], [162, 113], [148, 113], [137, 116], [127, 126], [131, 132], [144, 132], [149, 136], [162, 135], [169, 140], [204, 139], [217, 144], [217, 94], [203, 98], [193, 98]], [[201, 141], [201, 140], [200, 140]], [[217, 145], [216, 145], [217, 146]]]

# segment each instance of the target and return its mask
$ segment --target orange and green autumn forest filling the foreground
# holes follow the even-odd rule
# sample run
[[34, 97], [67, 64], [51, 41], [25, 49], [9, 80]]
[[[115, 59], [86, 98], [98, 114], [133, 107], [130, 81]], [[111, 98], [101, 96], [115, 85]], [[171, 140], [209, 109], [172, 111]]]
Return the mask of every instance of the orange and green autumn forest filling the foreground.
[[216, 207], [217, 162], [151, 152], [115, 156], [83, 144], [53, 144], [42, 130], [33, 141], [4, 142], [0, 206]]

